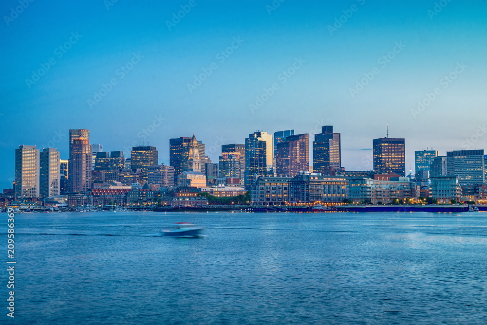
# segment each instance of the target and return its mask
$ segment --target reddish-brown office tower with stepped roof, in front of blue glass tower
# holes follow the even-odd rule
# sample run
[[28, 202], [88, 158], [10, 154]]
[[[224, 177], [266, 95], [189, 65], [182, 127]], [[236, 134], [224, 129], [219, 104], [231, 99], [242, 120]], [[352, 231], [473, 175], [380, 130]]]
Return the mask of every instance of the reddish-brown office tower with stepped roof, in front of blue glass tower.
[[294, 177], [301, 171], [309, 171], [309, 135], [296, 134], [277, 144], [276, 175]]

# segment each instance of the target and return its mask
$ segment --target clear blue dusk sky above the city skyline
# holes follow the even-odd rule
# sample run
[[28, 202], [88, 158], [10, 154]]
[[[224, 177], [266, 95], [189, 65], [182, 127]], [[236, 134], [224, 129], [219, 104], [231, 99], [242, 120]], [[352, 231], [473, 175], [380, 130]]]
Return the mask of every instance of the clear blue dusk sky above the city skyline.
[[19, 144], [67, 159], [70, 128], [107, 151], [147, 139], [166, 163], [172, 137], [194, 133], [216, 162], [221, 144], [256, 130], [321, 125], [341, 132], [349, 170], [372, 169], [364, 149], [386, 124], [406, 138], [407, 170], [414, 150], [487, 149], [485, 0], [161, 2], [33, 1], [18, 15], [19, 1], [0, 5], [0, 188]]

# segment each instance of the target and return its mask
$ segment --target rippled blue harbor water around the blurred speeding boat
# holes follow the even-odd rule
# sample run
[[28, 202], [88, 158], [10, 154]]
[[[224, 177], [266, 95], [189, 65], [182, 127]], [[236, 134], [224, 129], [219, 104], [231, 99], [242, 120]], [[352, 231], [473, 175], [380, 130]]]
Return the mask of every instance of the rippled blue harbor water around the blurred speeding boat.
[[[487, 324], [486, 220], [19, 214], [13, 324]], [[178, 221], [208, 227], [206, 236], [160, 236]], [[11, 324], [4, 269], [0, 323]]]

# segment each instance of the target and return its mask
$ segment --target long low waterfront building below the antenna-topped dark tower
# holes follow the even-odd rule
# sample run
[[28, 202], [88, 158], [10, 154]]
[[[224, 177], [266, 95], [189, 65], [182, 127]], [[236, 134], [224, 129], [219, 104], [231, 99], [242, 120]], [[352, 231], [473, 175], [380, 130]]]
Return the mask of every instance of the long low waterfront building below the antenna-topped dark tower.
[[354, 203], [369, 201], [377, 204], [393, 203], [395, 199], [416, 199], [419, 197], [419, 186], [407, 177], [393, 177], [389, 181], [378, 181], [368, 178], [351, 179], [349, 199]]

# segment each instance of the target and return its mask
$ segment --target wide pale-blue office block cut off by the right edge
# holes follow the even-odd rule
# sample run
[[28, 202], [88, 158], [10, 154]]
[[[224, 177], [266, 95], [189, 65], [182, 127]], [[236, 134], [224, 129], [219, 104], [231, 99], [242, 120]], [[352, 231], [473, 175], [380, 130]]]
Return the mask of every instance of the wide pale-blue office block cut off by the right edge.
[[447, 151], [448, 175], [456, 176], [460, 185], [485, 183], [484, 149]]

